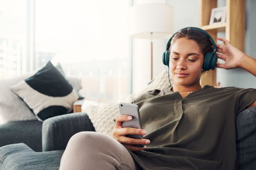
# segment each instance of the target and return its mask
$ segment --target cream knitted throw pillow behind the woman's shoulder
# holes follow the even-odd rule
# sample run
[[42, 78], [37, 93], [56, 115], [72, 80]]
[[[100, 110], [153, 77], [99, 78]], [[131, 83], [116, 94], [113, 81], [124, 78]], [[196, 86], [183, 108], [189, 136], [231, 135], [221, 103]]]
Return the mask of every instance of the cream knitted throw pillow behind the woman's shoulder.
[[[132, 101], [145, 92], [154, 89], [162, 90], [168, 86], [170, 86], [168, 71], [163, 70], [154, 81], [145, 87], [145, 89], [142, 89], [136, 94], [131, 94], [124, 102], [132, 103]], [[99, 104], [99, 106], [88, 105], [85, 108], [82, 108], [82, 111], [87, 113], [92, 121], [93, 127], [95, 127], [95, 131], [111, 136], [113, 128], [115, 127], [114, 120], [116, 116], [119, 115], [118, 103], [102, 103]]]

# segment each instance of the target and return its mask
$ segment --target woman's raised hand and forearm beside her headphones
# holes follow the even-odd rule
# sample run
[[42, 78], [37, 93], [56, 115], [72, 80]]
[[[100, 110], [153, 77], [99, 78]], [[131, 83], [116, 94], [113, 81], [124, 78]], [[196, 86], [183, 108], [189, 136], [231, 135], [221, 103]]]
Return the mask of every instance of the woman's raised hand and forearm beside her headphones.
[[232, 46], [227, 39], [217, 39], [225, 43], [225, 45], [216, 44], [218, 58], [225, 60], [225, 64], [217, 64], [217, 67], [223, 69], [240, 67], [256, 76], [256, 59]]

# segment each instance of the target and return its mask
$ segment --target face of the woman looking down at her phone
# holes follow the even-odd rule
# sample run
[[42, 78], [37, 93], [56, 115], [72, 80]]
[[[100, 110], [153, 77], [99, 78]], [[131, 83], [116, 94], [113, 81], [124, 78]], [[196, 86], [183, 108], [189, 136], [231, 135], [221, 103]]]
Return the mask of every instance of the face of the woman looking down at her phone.
[[204, 55], [192, 39], [179, 38], [174, 41], [170, 52], [170, 73], [173, 85], [192, 87], [200, 85]]

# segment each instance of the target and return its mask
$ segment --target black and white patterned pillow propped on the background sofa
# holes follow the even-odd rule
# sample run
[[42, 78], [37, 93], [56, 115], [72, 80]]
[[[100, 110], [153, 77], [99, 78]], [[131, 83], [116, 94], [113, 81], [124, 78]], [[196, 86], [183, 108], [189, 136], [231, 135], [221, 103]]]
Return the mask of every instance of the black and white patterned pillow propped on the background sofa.
[[73, 103], [79, 98], [51, 62], [10, 89], [26, 103], [40, 121], [69, 113]]

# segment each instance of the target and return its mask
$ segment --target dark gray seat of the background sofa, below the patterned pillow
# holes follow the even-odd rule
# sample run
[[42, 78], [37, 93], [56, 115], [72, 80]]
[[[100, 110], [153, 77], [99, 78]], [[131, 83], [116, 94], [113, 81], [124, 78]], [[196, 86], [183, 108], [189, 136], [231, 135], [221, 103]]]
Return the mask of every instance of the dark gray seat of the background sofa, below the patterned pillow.
[[36, 152], [42, 151], [42, 122], [37, 120], [8, 122], [0, 125], [0, 146], [26, 143]]

